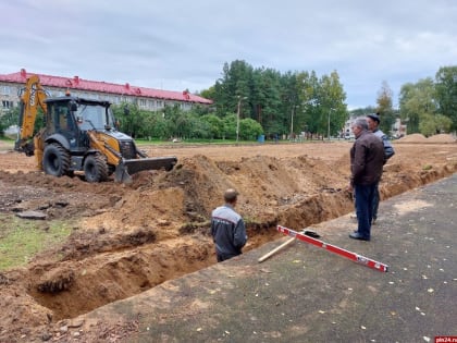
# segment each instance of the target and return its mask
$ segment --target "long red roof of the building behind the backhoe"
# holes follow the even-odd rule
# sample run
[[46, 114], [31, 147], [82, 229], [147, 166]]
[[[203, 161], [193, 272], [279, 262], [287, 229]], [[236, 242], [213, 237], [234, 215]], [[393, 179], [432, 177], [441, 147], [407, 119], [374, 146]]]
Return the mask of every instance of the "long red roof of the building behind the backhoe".
[[84, 79], [78, 76], [64, 77], [64, 76], [51, 76], [37, 73], [28, 73], [22, 69], [17, 73], [12, 74], [0, 74], [0, 82], [11, 82], [24, 84], [27, 77], [32, 75], [38, 75], [41, 85], [45, 87], [60, 87], [60, 88], [70, 88], [78, 90], [88, 90], [88, 91], [99, 91], [108, 93], [121, 96], [131, 96], [131, 97], [144, 97], [144, 98], [156, 98], [164, 100], [175, 100], [175, 101], [187, 101], [187, 102], [197, 102], [210, 105], [211, 100], [202, 98], [197, 95], [193, 95], [187, 90], [184, 91], [173, 91], [173, 90], [161, 90], [153, 88], [145, 88], [132, 86], [128, 83], [124, 85], [112, 84], [101, 81], [89, 81]]

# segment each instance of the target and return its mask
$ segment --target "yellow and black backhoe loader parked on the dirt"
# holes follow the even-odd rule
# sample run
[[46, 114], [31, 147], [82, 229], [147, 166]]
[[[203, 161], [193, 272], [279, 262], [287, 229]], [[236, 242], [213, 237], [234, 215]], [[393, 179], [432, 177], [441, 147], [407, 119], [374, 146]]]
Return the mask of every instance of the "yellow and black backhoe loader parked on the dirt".
[[[148, 158], [134, 139], [119, 132], [110, 102], [66, 95], [48, 97], [37, 75], [27, 78], [21, 93], [20, 132], [15, 150], [35, 155], [46, 174], [62, 176], [84, 171], [88, 182], [101, 182], [114, 174], [118, 182], [132, 182], [143, 170], [165, 169], [176, 157]], [[41, 108], [45, 126], [34, 135]]]

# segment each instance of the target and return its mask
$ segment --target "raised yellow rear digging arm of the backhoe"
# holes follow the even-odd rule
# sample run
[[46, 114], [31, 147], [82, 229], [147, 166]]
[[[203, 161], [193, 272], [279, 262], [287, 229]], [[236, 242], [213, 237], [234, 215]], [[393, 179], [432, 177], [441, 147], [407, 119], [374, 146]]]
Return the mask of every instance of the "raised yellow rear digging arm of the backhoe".
[[20, 132], [17, 134], [17, 140], [15, 142], [14, 149], [25, 152], [27, 156], [33, 156], [34, 143], [32, 142], [32, 138], [34, 136], [38, 108], [41, 108], [45, 113], [47, 111], [47, 106], [45, 103], [47, 94], [39, 82], [38, 75], [32, 75], [27, 78], [20, 97]]

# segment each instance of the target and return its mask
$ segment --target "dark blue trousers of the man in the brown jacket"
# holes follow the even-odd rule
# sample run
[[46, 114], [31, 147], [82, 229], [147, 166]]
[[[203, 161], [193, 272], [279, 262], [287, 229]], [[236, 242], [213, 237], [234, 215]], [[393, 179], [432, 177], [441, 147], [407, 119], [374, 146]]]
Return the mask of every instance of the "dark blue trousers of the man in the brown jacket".
[[376, 184], [355, 185], [356, 211], [358, 228], [357, 232], [365, 240], [370, 240], [371, 221], [373, 219], [373, 199]]

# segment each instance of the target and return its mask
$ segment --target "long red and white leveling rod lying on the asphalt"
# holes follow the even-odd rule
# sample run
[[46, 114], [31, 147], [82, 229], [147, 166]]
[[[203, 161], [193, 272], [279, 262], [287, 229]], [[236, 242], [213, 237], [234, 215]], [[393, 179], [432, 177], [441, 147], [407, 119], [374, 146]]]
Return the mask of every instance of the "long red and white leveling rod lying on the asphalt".
[[277, 225], [277, 231], [282, 232], [282, 233], [284, 233], [284, 234], [286, 234], [291, 237], [295, 237], [295, 238], [300, 240], [302, 242], [310, 243], [312, 245], [316, 245], [318, 247], [326, 249], [331, 253], [334, 253], [334, 254], [341, 255], [343, 257], [346, 257], [348, 259], [351, 259], [353, 261], [356, 261], [360, 265], [363, 265], [363, 266], [367, 266], [367, 267], [370, 267], [370, 268], [373, 268], [373, 269], [378, 269], [379, 271], [386, 272], [387, 269], [388, 269], [387, 265], [378, 262], [378, 261], [375, 261], [371, 258], [361, 256], [361, 255], [356, 254], [356, 253], [348, 252], [348, 250], [343, 249], [341, 247], [337, 247], [335, 245], [328, 244], [328, 243], [322, 242], [320, 240], [310, 237], [310, 236], [306, 235], [305, 233], [296, 232], [294, 230], [291, 230], [291, 229], [287, 229], [287, 228], [284, 228], [284, 226], [281, 226], [281, 225]]

